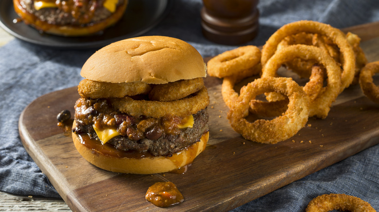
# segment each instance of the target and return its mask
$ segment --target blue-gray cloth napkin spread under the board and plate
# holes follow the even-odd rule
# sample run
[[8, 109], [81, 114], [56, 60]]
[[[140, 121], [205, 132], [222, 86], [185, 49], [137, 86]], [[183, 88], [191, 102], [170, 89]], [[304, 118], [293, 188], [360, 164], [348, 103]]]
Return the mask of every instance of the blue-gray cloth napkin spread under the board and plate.
[[[236, 46], [218, 45], [201, 32], [201, 0], [174, 0], [173, 8], [143, 35], [165, 35], [189, 42], [203, 57]], [[263, 45], [284, 24], [315, 20], [337, 28], [379, 21], [378, 0], [261, 0], [259, 34], [244, 45]], [[0, 47], [0, 191], [16, 195], [60, 197], [25, 151], [18, 118], [35, 98], [78, 85], [80, 69], [96, 49], [59, 50], [15, 39]], [[232, 211], [297, 212], [319, 195], [345, 193], [379, 210], [379, 145], [259, 197]]]

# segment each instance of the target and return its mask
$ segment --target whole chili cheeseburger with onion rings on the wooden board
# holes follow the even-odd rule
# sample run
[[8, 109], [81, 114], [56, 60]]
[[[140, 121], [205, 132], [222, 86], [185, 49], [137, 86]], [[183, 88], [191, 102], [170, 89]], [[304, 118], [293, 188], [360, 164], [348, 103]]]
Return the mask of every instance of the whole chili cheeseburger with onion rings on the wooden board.
[[83, 65], [72, 138], [93, 165], [122, 173], [169, 172], [208, 140], [206, 65], [188, 43], [164, 36], [107, 45]]

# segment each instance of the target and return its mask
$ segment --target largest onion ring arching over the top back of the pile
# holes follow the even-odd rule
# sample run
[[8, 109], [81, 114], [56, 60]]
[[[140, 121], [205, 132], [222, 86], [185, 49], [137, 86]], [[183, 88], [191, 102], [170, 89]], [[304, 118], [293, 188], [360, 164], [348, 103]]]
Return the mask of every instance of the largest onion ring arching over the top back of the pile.
[[266, 65], [269, 59], [275, 54], [277, 45], [288, 35], [299, 32], [317, 33], [324, 35], [335, 43], [343, 55], [343, 72], [341, 76], [342, 86], [340, 92], [347, 88], [353, 81], [355, 73], [355, 55], [352, 46], [347, 42], [345, 34], [330, 25], [316, 21], [297, 21], [286, 24], [277, 30], [263, 45], [261, 63], [262, 67]]

